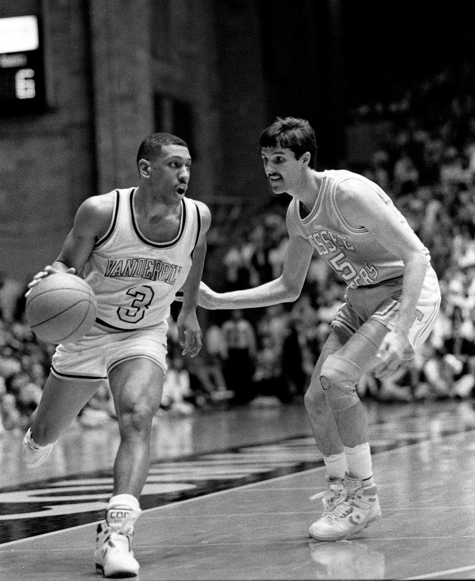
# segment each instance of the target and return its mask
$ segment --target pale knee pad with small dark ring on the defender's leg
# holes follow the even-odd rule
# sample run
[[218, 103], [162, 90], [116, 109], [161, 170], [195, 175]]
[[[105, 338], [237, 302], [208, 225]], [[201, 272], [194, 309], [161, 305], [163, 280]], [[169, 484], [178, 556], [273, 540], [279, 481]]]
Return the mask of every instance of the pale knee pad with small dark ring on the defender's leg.
[[360, 398], [356, 384], [363, 370], [345, 357], [329, 355], [322, 365], [320, 383], [325, 391], [328, 406], [334, 411], [348, 410], [356, 406]]

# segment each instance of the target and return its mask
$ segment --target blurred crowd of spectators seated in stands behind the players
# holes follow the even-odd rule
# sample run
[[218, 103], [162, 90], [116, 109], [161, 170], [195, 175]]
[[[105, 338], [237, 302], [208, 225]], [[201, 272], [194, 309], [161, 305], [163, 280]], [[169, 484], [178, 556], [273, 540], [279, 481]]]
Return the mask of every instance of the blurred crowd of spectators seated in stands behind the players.
[[[363, 399], [409, 402], [475, 395], [474, 81], [469, 67], [457, 76], [441, 71], [397, 102], [359, 107], [361, 120], [384, 116], [393, 129], [367, 163], [341, 160], [335, 167], [357, 171], [388, 193], [430, 250], [442, 291], [441, 313], [423, 349], [384, 382], [364, 376], [357, 386]], [[253, 217], [244, 214], [243, 206], [231, 213], [228, 208], [232, 227], [214, 220], [205, 273], [212, 288], [244, 289], [279, 276], [288, 243], [289, 200], [276, 198]], [[54, 351], [38, 342], [24, 320], [26, 282], [0, 274], [0, 433], [29, 425]], [[343, 284], [315, 255], [295, 303], [206, 311], [203, 349], [194, 358], [180, 354], [179, 304], [174, 303], [158, 415], [302, 400], [344, 293]], [[78, 421], [95, 427], [114, 418], [104, 384]]]

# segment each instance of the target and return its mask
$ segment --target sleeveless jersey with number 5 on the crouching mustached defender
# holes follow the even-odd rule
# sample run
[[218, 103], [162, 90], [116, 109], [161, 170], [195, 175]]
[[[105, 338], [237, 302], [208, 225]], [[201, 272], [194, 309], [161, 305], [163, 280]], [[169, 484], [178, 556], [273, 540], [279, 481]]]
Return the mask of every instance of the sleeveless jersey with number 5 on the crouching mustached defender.
[[[290, 202], [291, 223], [297, 234], [314, 246], [322, 259], [327, 261], [349, 288], [374, 285], [402, 276], [403, 261], [377, 242], [366, 228], [353, 228], [349, 225], [336, 205], [336, 192], [343, 181], [362, 181], [380, 196], [403, 227], [408, 232], [413, 232], [391, 198], [377, 184], [351, 171], [325, 170], [323, 174], [317, 200], [308, 216], [302, 218], [298, 200], [293, 198]], [[422, 243], [421, 246], [429, 264], [429, 251]]]

